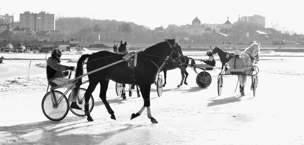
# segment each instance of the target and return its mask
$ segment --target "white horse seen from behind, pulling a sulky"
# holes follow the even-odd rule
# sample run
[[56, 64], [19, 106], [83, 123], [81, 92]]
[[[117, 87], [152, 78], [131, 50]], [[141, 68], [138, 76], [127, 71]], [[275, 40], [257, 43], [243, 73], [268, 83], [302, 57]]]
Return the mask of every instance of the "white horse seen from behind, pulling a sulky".
[[[249, 48], [246, 48], [244, 53], [241, 55], [241, 58], [244, 59], [246, 65], [253, 65], [254, 60], [258, 60], [259, 59], [259, 53], [260, 53], [260, 43], [253, 43], [250, 45]], [[250, 66], [246, 66], [245, 68], [245, 73], [247, 74], [252, 74], [253, 71], [250, 72], [251, 67]], [[246, 85], [246, 80], [247, 80], [247, 76], [246, 75], [242, 75], [242, 77], [240, 77], [240, 93], [241, 95], [245, 95], [244, 93], [244, 87]], [[252, 76], [251, 76], [251, 87], [250, 90], [253, 90], [253, 82], [252, 82]]]

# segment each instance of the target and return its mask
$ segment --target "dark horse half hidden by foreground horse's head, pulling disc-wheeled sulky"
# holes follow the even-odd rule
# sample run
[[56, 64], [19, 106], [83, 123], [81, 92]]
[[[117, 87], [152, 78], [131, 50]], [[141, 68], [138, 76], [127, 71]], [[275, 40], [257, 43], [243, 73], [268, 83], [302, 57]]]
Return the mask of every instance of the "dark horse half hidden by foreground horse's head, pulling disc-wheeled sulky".
[[[180, 46], [177, 45], [176, 47], [180, 47]], [[164, 82], [164, 84], [163, 84], [163, 87], [165, 87], [165, 85], [167, 84], [167, 82], [166, 82], [167, 70], [172, 70], [172, 69], [176, 69], [176, 68], [181, 69], [181, 83], [180, 83], [177, 87], [181, 87], [181, 86], [183, 85], [184, 79], [185, 79], [184, 84], [185, 84], [185, 85], [188, 85], [188, 83], [187, 83], [188, 72], [187, 72], [186, 69], [187, 69], [188, 64], [189, 64], [189, 59], [192, 59], [191, 62], [192, 62], [193, 64], [195, 64], [195, 61], [193, 60], [193, 58], [190, 58], [190, 57], [188, 57], [188, 56], [183, 55], [183, 57], [184, 57], [185, 60], [186, 60], [185, 64], [178, 65], [178, 63], [175, 62], [175, 61], [168, 61], [168, 60], [166, 60], [166, 61], [164, 62], [164, 64], [161, 65], [161, 68], [159, 68], [158, 73], [164, 72], [164, 80], [165, 80], [165, 82]], [[195, 69], [195, 68], [194, 68], [194, 69]], [[186, 76], [185, 76], [185, 75], [186, 75]], [[155, 82], [155, 84], [156, 84], [156, 82]]]

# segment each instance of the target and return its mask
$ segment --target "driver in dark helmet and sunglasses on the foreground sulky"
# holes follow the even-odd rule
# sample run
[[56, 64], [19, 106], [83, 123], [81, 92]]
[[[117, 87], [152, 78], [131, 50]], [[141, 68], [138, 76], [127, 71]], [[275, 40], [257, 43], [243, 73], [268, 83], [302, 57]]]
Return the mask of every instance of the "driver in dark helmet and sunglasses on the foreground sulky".
[[[66, 78], [66, 76], [68, 76], [69, 74], [67, 70], [74, 70], [73, 66], [66, 66], [60, 64], [61, 55], [62, 52], [60, 49], [54, 49], [51, 53], [51, 57], [47, 59], [47, 81], [53, 82], [57, 85], [70, 81], [71, 79]], [[72, 85], [73, 83], [68, 83], [62, 87], [69, 88]], [[76, 87], [76, 85], [74, 85], [73, 88]], [[71, 100], [72, 103], [70, 107], [74, 109], [82, 110], [82, 108], [80, 108], [77, 105], [76, 99], [77, 98], [75, 98], [75, 100]]]

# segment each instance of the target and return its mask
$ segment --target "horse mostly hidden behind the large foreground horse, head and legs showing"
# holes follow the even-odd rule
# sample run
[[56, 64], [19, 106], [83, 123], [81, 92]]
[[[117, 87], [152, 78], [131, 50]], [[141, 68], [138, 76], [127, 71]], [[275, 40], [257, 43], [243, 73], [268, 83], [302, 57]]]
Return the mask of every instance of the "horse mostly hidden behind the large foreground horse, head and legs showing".
[[[122, 45], [125, 45], [123, 47], [120, 47]], [[118, 52], [121, 52], [121, 53], [128, 53], [129, 52], [129, 48], [130, 46], [127, 45], [127, 42], [123, 43], [123, 41], [120, 41], [120, 45], [118, 47], [118, 44], [113, 46], [113, 51], [118, 51]], [[121, 93], [121, 96], [120, 97], [123, 97], [123, 99], [126, 99], [126, 84], [122, 84], [122, 93]], [[133, 89], [135, 89], [135, 85], [131, 85], [129, 84], [129, 97], [132, 97], [133, 93], [131, 92]], [[136, 85], [136, 92], [137, 92], [137, 97], [140, 97], [140, 94], [139, 94], [139, 89], [138, 89], [138, 86]]]

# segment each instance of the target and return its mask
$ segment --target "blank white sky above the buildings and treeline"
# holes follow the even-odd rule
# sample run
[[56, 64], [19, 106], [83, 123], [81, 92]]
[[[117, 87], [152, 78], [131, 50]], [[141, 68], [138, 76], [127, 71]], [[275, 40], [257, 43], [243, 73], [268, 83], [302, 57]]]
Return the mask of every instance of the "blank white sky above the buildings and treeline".
[[49, 12], [55, 17], [89, 17], [93, 19], [116, 19], [118, 21], [134, 22], [154, 29], [169, 24], [191, 24], [197, 16], [202, 23], [225, 23], [227, 16], [231, 23], [236, 22], [238, 16], [253, 16], [255, 14], [266, 18], [266, 26], [278, 23], [284, 30], [294, 30], [304, 34], [302, 0], [288, 1], [202, 1], [202, 0], [51, 0], [51, 1], [9, 1], [3, 0], [1, 15], [14, 14], [15, 21], [19, 21], [19, 14], [25, 11], [33, 13]]

